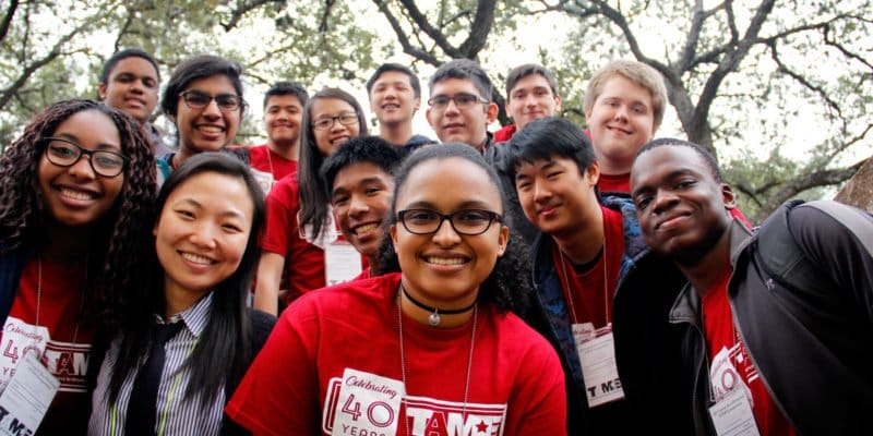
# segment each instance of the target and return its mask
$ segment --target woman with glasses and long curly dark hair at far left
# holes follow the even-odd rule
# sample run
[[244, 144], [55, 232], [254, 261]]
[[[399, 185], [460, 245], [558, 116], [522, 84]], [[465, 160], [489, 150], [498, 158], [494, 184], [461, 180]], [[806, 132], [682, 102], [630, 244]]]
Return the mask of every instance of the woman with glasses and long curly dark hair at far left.
[[85, 433], [86, 362], [140, 280], [154, 174], [136, 121], [89, 100], [49, 106], [0, 157], [0, 390], [31, 365], [58, 382], [31, 432]]

